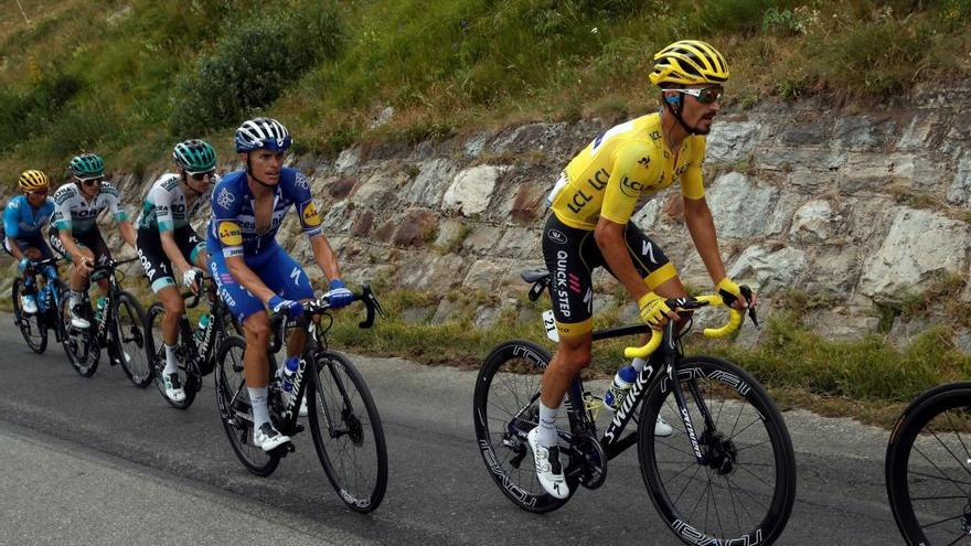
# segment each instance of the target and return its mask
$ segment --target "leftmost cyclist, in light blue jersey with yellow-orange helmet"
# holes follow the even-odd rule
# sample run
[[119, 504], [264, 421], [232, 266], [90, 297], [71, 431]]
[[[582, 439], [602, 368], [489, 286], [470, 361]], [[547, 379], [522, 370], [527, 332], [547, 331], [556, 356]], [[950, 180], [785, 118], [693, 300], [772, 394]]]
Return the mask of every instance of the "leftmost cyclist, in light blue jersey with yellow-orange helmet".
[[[17, 258], [17, 270], [23, 275], [24, 295], [21, 309], [24, 313], [38, 312], [33, 276], [25, 275], [31, 260], [52, 258], [54, 255], [44, 242], [42, 229], [54, 214], [54, 200], [47, 196], [51, 182], [41, 171], [21, 173], [17, 181], [23, 195], [7, 203], [3, 210], [3, 249]], [[47, 281], [57, 278], [57, 268], [47, 266], [43, 271]]]

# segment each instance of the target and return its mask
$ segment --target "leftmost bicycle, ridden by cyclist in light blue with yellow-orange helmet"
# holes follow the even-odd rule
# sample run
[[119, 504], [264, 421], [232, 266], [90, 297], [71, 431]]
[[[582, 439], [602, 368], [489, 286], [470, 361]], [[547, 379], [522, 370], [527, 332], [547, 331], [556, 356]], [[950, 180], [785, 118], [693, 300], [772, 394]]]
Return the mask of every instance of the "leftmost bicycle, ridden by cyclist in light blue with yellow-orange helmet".
[[[21, 335], [23, 335], [23, 341], [26, 342], [31, 351], [38, 354], [46, 351], [47, 335], [51, 330], [54, 331], [54, 340], [57, 343], [61, 343], [66, 335], [64, 324], [61, 322], [57, 314], [57, 309], [67, 289], [61, 279], [46, 279], [46, 277], [41, 274], [41, 271], [49, 266], [56, 268], [57, 261], [60, 261], [58, 258], [45, 258], [38, 261], [31, 261], [26, 269], [26, 274], [32, 280], [31, 287], [25, 287], [23, 278], [18, 277], [13, 280], [13, 288], [11, 289], [11, 298], [13, 300], [13, 323], [20, 330]], [[38, 289], [40, 286], [38, 283], [39, 277], [45, 278], [45, 282], [40, 289]], [[21, 298], [25, 295], [39, 296], [36, 298], [38, 312], [23, 312]]]

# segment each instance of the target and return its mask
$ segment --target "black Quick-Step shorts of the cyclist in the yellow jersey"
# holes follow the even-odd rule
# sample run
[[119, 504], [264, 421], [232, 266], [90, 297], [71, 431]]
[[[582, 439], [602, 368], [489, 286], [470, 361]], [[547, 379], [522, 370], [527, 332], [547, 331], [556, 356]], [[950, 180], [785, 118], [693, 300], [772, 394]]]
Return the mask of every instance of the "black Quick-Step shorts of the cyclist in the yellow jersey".
[[[625, 238], [633, 267], [649, 290], [677, 275], [661, 247], [637, 225], [627, 224]], [[590, 332], [594, 329], [591, 275], [595, 267], [610, 271], [594, 239], [594, 232], [569, 227], [555, 214], [549, 214], [543, 228], [543, 258], [552, 276], [549, 297], [556, 330], [566, 336]]]

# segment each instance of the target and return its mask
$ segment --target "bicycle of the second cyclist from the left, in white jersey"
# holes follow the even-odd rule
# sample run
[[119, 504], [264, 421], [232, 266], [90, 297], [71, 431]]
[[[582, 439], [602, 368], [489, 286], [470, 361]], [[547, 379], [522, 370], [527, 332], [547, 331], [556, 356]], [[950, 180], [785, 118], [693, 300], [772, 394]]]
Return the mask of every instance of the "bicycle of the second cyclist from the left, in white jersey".
[[94, 375], [98, 368], [102, 347], [106, 347], [108, 363], [113, 366], [120, 365], [135, 386], [145, 388], [151, 383], [151, 367], [145, 355], [145, 311], [135, 296], [121, 289], [125, 275], [118, 269], [136, 260], [138, 258], [120, 261], [109, 258], [92, 268], [92, 282], [107, 279], [108, 291], [104, 307], [97, 313], [92, 312], [90, 302], [85, 295], [82, 315], [90, 323], [88, 328], [73, 325], [71, 298], [61, 300], [61, 321], [67, 333], [63, 343], [64, 352], [82, 377]]

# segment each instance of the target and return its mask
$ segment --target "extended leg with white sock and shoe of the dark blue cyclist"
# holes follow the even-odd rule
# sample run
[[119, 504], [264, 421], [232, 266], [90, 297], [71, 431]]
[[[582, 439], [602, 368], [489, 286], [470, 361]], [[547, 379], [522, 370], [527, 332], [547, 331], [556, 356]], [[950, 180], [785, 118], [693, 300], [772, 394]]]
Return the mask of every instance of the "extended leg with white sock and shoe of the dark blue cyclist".
[[[210, 248], [218, 248], [212, 237], [207, 243]], [[243, 324], [246, 346], [253, 347], [243, 355], [243, 375], [253, 408], [253, 441], [265, 451], [271, 451], [290, 441], [290, 438], [274, 427], [267, 408], [269, 362], [264, 347], [269, 345], [269, 315], [263, 302], [236, 282], [222, 253], [211, 255], [210, 269], [216, 280], [220, 298]]]

